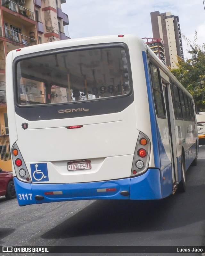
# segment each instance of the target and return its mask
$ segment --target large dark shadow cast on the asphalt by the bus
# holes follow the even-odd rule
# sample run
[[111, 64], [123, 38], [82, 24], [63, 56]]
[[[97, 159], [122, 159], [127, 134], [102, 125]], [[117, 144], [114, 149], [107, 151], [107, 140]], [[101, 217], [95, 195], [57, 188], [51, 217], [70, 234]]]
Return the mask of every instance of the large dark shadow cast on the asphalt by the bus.
[[[198, 160], [198, 166], [204, 161]], [[42, 238], [69, 238], [99, 234], [149, 232], [178, 228], [204, 220], [205, 175], [197, 167], [187, 171], [187, 191], [154, 201], [95, 201]], [[192, 180], [195, 184], [192, 184]]]

